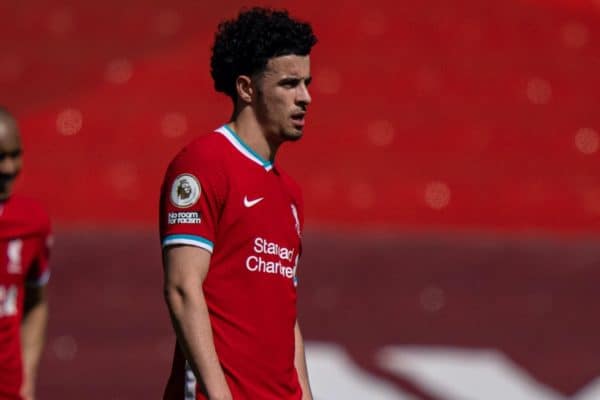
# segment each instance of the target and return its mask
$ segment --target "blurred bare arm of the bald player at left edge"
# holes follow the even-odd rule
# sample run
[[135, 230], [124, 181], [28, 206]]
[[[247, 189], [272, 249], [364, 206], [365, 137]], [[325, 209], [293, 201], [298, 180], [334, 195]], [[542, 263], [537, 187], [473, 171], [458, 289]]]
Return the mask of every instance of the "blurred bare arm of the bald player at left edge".
[[44, 286], [25, 286], [25, 304], [21, 321], [24, 381], [21, 395], [34, 398], [37, 367], [44, 347], [48, 301]]

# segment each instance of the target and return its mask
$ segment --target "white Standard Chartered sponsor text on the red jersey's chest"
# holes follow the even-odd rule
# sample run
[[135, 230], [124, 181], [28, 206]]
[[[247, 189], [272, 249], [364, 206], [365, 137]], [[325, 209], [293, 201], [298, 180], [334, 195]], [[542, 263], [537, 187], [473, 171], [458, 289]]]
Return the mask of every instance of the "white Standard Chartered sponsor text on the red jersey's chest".
[[[294, 249], [288, 249], [261, 237], [254, 239], [252, 249], [254, 250], [254, 254], [246, 258], [246, 269], [248, 271], [278, 274], [288, 279], [292, 279], [295, 276], [298, 256], [294, 260]], [[262, 254], [274, 255], [279, 259], [271, 261], [263, 258]]]

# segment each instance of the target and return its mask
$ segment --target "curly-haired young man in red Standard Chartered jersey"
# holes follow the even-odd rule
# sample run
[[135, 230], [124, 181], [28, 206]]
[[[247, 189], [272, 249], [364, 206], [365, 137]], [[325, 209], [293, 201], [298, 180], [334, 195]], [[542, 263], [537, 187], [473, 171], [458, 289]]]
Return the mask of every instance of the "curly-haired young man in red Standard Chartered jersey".
[[165, 399], [310, 400], [296, 320], [300, 189], [275, 164], [302, 136], [310, 25], [253, 8], [219, 25], [211, 69], [228, 124], [168, 167], [160, 227], [177, 334]]

